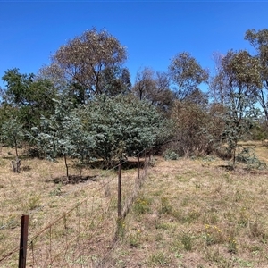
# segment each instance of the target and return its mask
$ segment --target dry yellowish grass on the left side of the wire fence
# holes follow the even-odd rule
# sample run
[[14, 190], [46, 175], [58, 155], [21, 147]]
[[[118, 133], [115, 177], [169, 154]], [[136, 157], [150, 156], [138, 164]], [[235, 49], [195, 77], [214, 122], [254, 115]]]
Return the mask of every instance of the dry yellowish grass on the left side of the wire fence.
[[[83, 178], [93, 180], [56, 184], [65, 175], [63, 159], [50, 163], [22, 156], [21, 173], [13, 173], [14, 156], [6, 148], [0, 156], [0, 260], [15, 250], [0, 266], [18, 266], [22, 214], [29, 214], [29, 267], [97, 264], [117, 228], [117, 172], [84, 169]], [[80, 174], [71, 164], [70, 173]], [[122, 201], [135, 177], [135, 170], [122, 172]]]

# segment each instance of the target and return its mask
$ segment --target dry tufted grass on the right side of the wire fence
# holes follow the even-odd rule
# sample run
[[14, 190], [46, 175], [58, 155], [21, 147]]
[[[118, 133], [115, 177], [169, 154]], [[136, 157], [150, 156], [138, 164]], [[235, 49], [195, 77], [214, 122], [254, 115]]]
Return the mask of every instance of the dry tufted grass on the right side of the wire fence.
[[111, 267], [268, 267], [267, 170], [226, 165], [158, 157]]

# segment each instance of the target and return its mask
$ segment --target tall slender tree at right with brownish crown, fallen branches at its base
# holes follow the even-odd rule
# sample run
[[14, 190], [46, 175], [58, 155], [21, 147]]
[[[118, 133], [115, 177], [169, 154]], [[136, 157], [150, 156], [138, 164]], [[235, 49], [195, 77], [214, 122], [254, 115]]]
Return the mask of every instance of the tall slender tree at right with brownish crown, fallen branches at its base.
[[228, 104], [223, 117], [222, 139], [227, 142], [235, 167], [239, 140], [245, 138], [258, 116], [256, 98], [252, 95], [261, 86], [258, 60], [247, 51], [230, 50], [222, 59], [222, 71], [227, 78]]

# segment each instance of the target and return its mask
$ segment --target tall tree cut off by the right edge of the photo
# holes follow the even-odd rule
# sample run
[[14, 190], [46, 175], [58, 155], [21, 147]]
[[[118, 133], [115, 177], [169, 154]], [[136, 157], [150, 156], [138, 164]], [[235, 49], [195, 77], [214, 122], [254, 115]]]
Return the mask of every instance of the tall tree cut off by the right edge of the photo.
[[258, 99], [259, 104], [264, 110], [266, 123], [268, 121], [268, 29], [248, 29], [245, 39], [249, 41], [251, 46], [256, 50], [255, 58], [260, 64], [260, 75], [262, 87], [256, 88], [253, 92]]

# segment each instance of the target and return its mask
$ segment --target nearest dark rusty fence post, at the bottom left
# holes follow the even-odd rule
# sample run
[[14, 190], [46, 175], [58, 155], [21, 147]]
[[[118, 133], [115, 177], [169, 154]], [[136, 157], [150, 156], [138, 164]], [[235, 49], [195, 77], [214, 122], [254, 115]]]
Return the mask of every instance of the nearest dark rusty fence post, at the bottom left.
[[22, 215], [19, 268], [26, 268], [28, 226], [29, 226], [29, 215]]

